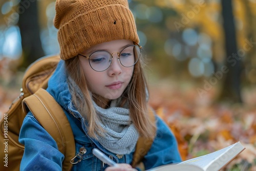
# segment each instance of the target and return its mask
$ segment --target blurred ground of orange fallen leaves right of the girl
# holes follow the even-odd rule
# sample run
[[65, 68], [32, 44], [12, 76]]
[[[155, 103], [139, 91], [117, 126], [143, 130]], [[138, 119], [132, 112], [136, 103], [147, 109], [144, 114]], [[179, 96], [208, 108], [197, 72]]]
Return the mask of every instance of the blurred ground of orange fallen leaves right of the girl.
[[256, 88], [242, 90], [243, 104], [217, 102], [218, 87], [200, 96], [198, 83], [158, 80], [151, 106], [173, 130], [183, 160], [240, 141], [246, 149], [223, 170], [256, 170]]

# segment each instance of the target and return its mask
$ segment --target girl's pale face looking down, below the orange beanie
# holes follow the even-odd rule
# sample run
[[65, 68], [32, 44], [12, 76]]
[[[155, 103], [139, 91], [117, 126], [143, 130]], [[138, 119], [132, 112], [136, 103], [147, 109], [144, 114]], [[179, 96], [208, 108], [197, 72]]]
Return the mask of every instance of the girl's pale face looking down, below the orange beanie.
[[[122, 66], [118, 60], [117, 53], [119, 53], [129, 45], [133, 45], [133, 41], [113, 40], [109, 42], [103, 42], [102, 44], [93, 46], [90, 49], [87, 49], [86, 51], [80, 53], [84, 56], [90, 56], [96, 51], [107, 51], [112, 54], [113, 60], [111, 66], [101, 72], [92, 69], [92, 67], [94, 67], [95, 69], [96, 67], [100, 66], [103, 62], [104, 58], [102, 57], [103, 55], [101, 56], [101, 53], [98, 53], [96, 58], [94, 59], [92, 57], [90, 57], [90, 59], [87, 59], [86, 57], [78, 55], [83, 73], [87, 79], [88, 87], [91, 92], [111, 100], [117, 99], [122, 95], [132, 78], [134, 66]], [[89, 63], [89, 60], [91, 65]], [[96, 69], [99, 70], [100, 68]]]

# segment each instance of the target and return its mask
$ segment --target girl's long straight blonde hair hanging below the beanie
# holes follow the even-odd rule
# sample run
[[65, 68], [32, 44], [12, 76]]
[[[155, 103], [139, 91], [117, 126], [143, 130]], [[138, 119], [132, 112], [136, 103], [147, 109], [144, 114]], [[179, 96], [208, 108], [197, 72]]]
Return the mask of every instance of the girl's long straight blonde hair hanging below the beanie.
[[[69, 77], [75, 81], [83, 94], [83, 97], [79, 97], [77, 91], [71, 91], [72, 102], [82, 117], [86, 118], [88, 121], [88, 135], [97, 139], [96, 134], [103, 136], [102, 133], [104, 133], [104, 130], [100, 124], [97, 124], [100, 122], [100, 118], [93, 107], [93, 99], [87, 86], [86, 77], [81, 69], [79, 58], [77, 56], [73, 57], [66, 60], [65, 63]], [[147, 84], [142, 69], [142, 63], [143, 60], [142, 57], [140, 57], [139, 61], [134, 66], [131, 82], [123, 92], [120, 107], [127, 101], [129, 104], [131, 120], [140, 136], [153, 138], [155, 136], [154, 130], [156, 129], [156, 125], [148, 117], [146, 99]]]

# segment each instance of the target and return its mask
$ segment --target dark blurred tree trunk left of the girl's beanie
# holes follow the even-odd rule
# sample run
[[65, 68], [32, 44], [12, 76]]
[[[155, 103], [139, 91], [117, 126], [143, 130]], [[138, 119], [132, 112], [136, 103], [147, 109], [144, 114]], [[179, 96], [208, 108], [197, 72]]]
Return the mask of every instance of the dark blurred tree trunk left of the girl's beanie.
[[18, 21], [23, 48], [23, 61], [20, 67], [27, 68], [30, 63], [45, 55], [40, 40], [37, 1], [21, 0], [18, 8], [23, 11], [19, 13]]

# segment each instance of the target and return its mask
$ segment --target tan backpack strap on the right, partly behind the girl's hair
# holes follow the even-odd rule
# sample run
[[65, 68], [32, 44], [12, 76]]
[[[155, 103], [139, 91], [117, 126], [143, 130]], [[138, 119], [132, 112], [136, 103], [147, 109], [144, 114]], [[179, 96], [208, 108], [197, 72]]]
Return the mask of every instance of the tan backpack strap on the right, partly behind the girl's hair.
[[[155, 115], [152, 108], [148, 108], [148, 116], [150, 117], [150, 120], [155, 123]], [[155, 130], [156, 134], [156, 130]], [[136, 167], [143, 157], [147, 154], [147, 152], [150, 150], [151, 145], [153, 143], [154, 139], [152, 138], [145, 138], [145, 137], [139, 137], [138, 142], [136, 144], [135, 152], [133, 155], [133, 162], [132, 166]]]

